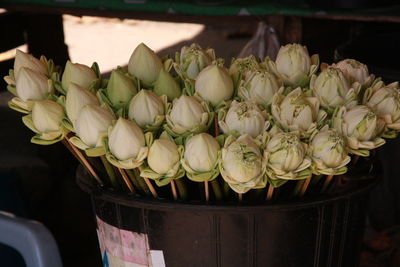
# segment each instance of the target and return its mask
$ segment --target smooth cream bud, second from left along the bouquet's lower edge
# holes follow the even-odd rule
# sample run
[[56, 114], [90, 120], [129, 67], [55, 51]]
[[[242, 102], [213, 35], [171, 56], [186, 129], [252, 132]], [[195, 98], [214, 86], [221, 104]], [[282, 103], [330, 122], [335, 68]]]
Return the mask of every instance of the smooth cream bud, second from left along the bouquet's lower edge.
[[76, 135], [89, 147], [101, 146], [101, 138], [107, 133], [114, 115], [97, 105], [84, 106], [76, 119]]

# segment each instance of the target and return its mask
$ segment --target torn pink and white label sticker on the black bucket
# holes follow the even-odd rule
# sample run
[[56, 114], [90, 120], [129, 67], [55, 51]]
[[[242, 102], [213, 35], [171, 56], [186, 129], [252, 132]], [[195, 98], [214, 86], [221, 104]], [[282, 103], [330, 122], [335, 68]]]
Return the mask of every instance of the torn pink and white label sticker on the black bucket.
[[99, 217], [97, 236], [104, 267], [165, 267], [161, 250], [150, 250], [146, 234], [119, 229]]

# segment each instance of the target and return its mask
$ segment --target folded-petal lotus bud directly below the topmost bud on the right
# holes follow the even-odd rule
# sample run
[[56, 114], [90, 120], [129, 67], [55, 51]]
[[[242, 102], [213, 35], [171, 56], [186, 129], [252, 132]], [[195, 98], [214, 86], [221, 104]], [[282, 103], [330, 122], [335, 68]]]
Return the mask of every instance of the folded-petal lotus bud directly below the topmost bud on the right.
[[271, 111], [280, 127], [286, 131], [298, 132], [302, 137], [309, 137], [317, 123], [326, 117], [326, 113], [319, 109], [319, 101], [315, 97], [305, 97], [301, 88], [287, 96], [277, 95]]

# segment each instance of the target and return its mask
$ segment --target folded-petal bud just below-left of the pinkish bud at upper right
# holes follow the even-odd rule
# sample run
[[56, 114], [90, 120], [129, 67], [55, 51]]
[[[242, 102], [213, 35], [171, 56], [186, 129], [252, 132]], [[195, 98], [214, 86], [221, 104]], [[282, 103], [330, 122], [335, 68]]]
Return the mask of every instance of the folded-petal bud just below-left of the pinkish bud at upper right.
[[349, 88], [349, 82], [339, 69], [328, 67], [323, 70], [311, 79], [310, 88], [325, 108], [351, 107], [357, 103], [357, 94]]

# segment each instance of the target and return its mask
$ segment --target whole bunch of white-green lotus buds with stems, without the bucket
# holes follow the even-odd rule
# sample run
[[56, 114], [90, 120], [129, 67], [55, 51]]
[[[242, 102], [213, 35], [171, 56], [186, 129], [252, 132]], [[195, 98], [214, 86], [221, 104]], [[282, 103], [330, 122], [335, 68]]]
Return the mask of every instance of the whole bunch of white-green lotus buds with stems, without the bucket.
[[229, 67], [197, 44], [175, 58], [140, 44], [108, 80], [96, 63], [62, 71], [17, 51], [4, 79], [33, 143], [63, 142], [99, 186], [140, 197], [264, 201], [318, 185], [323, 194], [400, 131], [397, 82], [353, 59], [320, 65], [300, 44]]

